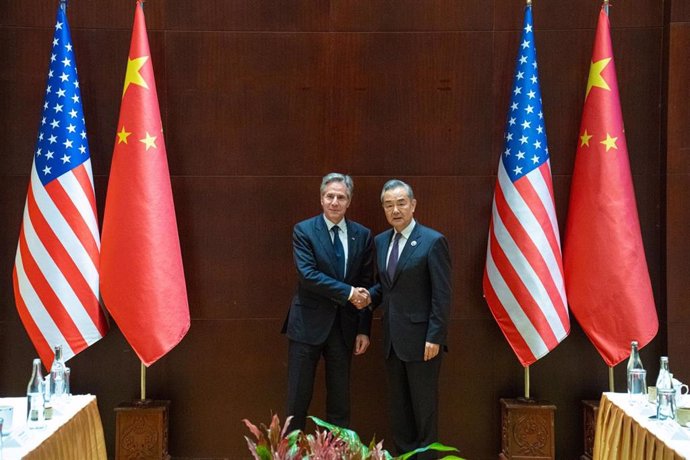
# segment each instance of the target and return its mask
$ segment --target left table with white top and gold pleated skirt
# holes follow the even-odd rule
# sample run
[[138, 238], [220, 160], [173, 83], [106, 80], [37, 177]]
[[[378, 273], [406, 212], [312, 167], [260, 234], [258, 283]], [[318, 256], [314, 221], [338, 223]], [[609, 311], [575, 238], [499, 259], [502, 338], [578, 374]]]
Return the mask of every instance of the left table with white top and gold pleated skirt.
[[103, 425], [93, 395], [71, 395], [53, 405], [45, 428], [26, 426], [26, 397], [0, 398], [14, 407], [12, 431], [3, 437], [2, 460], [106, 460]]

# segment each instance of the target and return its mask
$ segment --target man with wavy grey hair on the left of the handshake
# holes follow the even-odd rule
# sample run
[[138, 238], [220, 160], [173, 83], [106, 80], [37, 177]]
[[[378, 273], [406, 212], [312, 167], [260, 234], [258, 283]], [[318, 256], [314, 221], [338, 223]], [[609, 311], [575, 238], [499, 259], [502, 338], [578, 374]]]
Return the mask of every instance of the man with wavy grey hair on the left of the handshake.
[[304, 430], [314, 375], [326, 365], [326, 420], [350, 424], [350, 361], [369, 346], [373, 284], [371, 231], [345, 219], [352, 199], [350, 176], [331, 173], [321, 182], [323, 214], [295, 225], [297, 291], [283, 326], [288, 347], [287, 415], [290, 429]]

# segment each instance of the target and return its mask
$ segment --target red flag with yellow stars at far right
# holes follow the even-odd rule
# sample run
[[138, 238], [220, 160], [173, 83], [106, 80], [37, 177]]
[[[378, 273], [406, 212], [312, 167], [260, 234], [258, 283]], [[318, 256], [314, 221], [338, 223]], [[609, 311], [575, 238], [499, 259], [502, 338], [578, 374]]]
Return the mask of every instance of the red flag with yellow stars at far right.
[[599, 14], [563, 260], [570, 309], [606, 364], [659, 329], [635, 203], [608, 14]]

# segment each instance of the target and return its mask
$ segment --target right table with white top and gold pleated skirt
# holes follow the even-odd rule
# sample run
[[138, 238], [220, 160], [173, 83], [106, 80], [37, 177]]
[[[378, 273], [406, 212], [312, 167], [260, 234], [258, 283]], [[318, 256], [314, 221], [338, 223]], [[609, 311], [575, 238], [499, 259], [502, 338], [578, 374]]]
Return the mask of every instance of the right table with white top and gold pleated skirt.
[[690, 428], [656, 420], [656, 405], [604, 393], [594, 435], [594, 460], [690, 459]]

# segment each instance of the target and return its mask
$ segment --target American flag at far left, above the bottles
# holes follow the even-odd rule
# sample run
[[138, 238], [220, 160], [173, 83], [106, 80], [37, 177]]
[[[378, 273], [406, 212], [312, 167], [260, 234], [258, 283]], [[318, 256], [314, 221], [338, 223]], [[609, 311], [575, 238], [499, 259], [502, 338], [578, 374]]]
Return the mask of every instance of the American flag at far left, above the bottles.
[[65, 360], [99, 340], [100, 241], [77, 66], [58, 7], [43, 114], [13, 271], [19, 316], [41, 360]]

